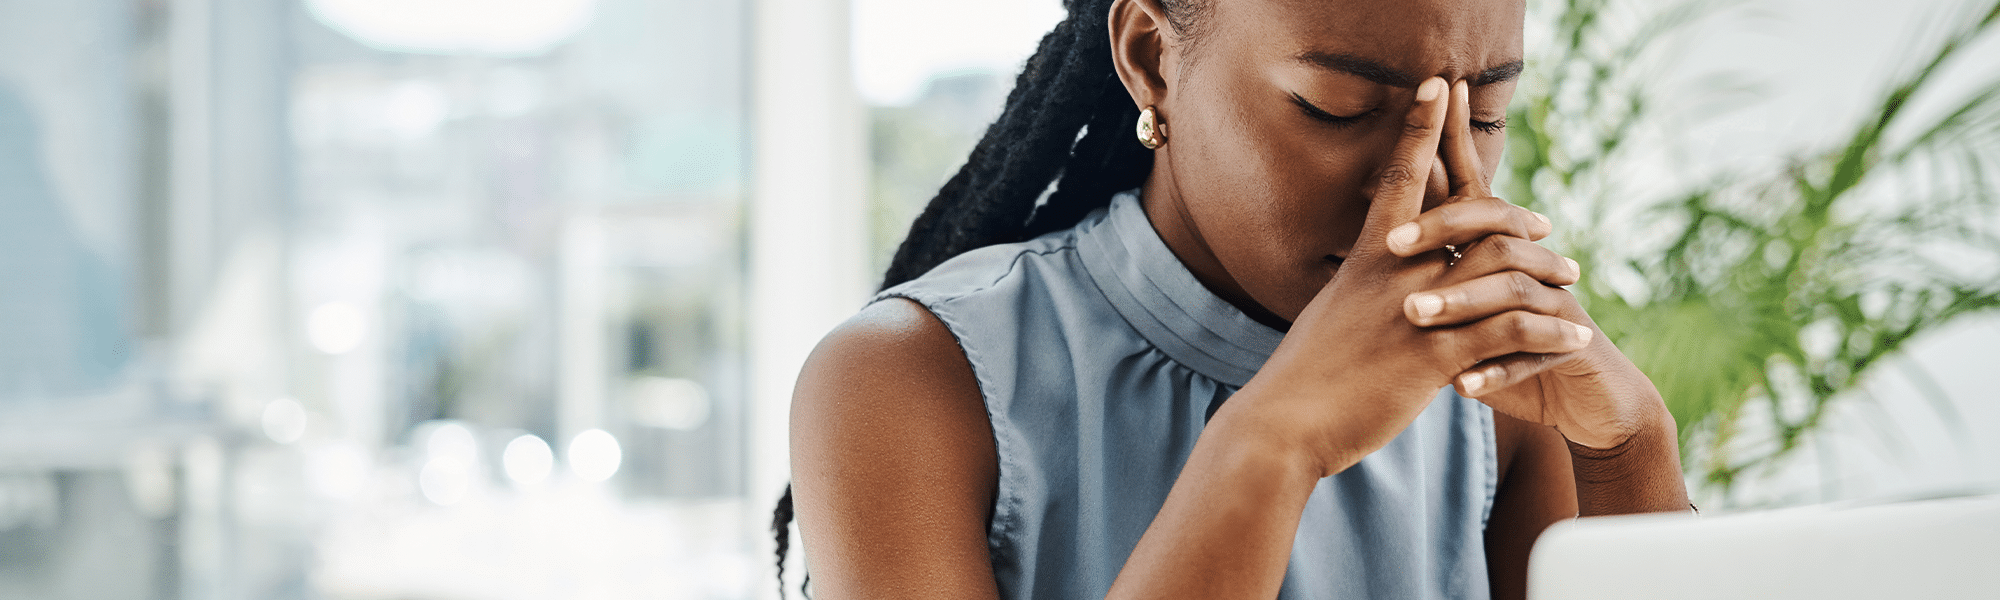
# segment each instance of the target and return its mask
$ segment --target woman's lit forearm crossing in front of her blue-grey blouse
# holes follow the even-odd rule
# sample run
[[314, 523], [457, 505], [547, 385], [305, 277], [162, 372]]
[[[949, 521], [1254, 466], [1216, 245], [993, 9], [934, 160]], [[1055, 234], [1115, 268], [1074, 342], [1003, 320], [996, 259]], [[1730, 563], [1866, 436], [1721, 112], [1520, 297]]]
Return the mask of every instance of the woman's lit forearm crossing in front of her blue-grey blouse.
[[1110, 598], [1278, 596], [1316, 482], [1318, 464], [1210, 422]]

